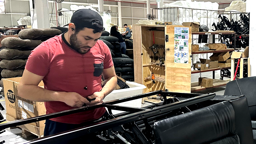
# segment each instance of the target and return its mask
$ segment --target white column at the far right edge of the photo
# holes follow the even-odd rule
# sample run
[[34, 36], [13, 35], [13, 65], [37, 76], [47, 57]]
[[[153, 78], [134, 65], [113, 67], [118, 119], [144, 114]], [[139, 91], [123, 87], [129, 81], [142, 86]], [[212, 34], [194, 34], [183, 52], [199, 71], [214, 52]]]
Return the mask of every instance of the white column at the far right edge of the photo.
[[256, 19], [254, 18], [256, 16], [255, 8], [255, 1], [254, 0], [247, 0], [246, 1], [246, 12], [250, 12], [250, 38], [249, 38], [249, 58], [250, 61], [254, 61], [250, 63], [250, 69], [251, 69], [251, 76], [256, 76], [256, 46], [254, 45], [254, 40], [256, 39]]

